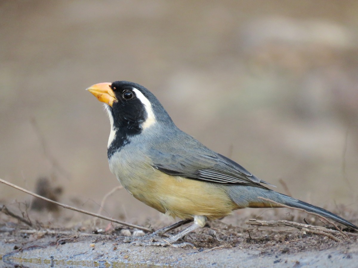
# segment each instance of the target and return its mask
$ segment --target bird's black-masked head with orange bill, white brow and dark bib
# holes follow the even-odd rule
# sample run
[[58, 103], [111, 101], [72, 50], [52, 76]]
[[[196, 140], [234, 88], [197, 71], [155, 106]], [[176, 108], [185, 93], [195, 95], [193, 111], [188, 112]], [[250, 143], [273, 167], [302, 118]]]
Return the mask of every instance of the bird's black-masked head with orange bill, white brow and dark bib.
[[108, 157], [130, 142], [130, 137], [151, 131], [155, 124], [174, 125], [159, 100], [144, 86], [128, 81], [100, 83], [88, 88], [105, 103], [111, 121]]

